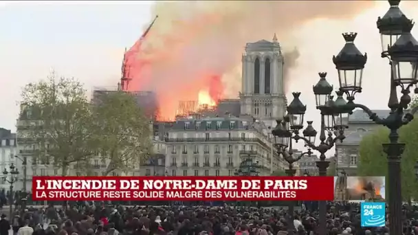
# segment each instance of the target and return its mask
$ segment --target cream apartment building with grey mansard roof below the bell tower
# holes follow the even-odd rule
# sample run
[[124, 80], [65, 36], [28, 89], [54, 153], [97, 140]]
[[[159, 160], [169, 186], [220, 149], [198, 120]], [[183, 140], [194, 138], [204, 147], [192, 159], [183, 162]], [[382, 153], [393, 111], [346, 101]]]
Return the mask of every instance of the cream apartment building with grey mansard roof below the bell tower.
[[234, 175], [243, 159], [252, 157], [260, 175], [283, 169], [272, 149], [270, 130], [248, 115], [180, 118], [166, 133], [168, 175]]

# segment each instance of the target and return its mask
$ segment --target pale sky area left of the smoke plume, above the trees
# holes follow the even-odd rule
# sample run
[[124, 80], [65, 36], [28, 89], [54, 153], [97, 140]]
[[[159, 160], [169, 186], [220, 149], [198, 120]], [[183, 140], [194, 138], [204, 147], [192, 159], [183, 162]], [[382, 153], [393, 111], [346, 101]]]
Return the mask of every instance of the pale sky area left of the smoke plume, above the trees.
[[151, 2], [0, 2], [0, 126], [15, 129], [21, 87], [52, 68], [94, 86], [115, 85], [124, 47], [140, 37]]

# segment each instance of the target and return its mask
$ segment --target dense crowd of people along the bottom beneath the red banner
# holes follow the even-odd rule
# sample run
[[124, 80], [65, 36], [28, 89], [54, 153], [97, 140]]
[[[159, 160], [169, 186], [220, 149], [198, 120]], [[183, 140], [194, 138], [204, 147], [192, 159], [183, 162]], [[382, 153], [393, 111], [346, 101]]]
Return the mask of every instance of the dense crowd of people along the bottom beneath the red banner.
[[[418, 235], [418, 208], [405, 206], [404, 216], [404, 235]], [[305, 207], [289, 219], [285, 208], [85, 203], [66, 210], [28, 207], [11, 219], [2, 214], [0, 235], [314, 235], [318, 221], [318, 211]], [[360, 205], [342, 202], [327, 205], [327, 232], [390, 234], [388, 227], [361, 227]]]

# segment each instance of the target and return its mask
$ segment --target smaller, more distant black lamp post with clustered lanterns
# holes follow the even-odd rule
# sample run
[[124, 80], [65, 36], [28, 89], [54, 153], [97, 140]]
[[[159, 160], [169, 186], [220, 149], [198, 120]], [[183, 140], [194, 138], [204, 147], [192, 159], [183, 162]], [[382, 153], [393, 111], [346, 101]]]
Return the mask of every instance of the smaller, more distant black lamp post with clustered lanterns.
[[[320, 144], [315, 145], [317, 131], [312, 126], [311, 121], [307, 122], [307, 127], [303, 130], [303, 136], [300, 136], [300, 130], [303, 128], [303, 120], [306, 111], [306, 106], [300, 101], [300, 93], [292, 93], [294, 100], [287, 107], [287, 113], [290, 118], [285, 118], [282, 125], [277, 125], [274, 129], [278, 137], [287, 137], [292, 143], [292, 139], [298, 142], [300, 139], [305, 141], [305, 146], [308, 147], [306, 154], [311, 155], [311, 149], [317, 150], [320, 153], [319, 161], [316, 161], [319, 175], [327, 176], [327, 168], [329, 161], [326, 160], [325, 153], [333, 148], [337, 140], [345, 138], [344, 129], [347, 128], [348, 112], [341, 111], [347, 102], [342, 98], [342, 92], [338, 91], [338, 98], [333, 101], [331, 92], [333, 87], [327, 82], [327, 73], [319, 73], [320, 80], [314, 86], [314, 94], [316, 96], [316, 109], [321, 113], [321, 128], [320, 128]], [[294, 118], [296, 117], [296, 118]], [[285, 127], [287, 126], [287, 129]], [[282, 131], [285, 129], [285, 131]], [[334, 134], [336, 135], [334, 137]], [[287, 142], [286, 142], [287, 144]], [[285, 152], [284, 152], [285, 153]], [[286, 154], [286, 153], [285, 153]], [[282, 153], [283, 155], [283, 153]], [[285, 159], [287, 158], [283, 155]], [[319, 202], [320, 214], [320, 234], [327, 234], [327, 202]]]

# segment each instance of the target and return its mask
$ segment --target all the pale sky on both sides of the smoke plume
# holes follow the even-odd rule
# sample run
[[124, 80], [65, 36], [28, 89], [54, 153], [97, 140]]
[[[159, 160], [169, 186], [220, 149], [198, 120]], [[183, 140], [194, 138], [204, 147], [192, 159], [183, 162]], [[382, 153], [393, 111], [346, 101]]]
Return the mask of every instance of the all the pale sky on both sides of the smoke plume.
[[[21, 87], [45, 78], [52, 68], [58, 75], [78, 78], [89, 91], [94, 86], [115, 85], [120, 78], [124, 47], [133, 45], [151, 21], [152, 4], [152, 1], [0, 1], [0, 126], [15, 130]], [[410, 19], [418, 18], [417, 1], [402, 1], [401, 9]], [[379, 1], [355, 19], [317, 19], [295, 28], [292, 34], [278, 35], [284, 47], [293, 43], [300, 50], [289, 87], [302, 92], [301, 99], [308, 105], [305, 120], [314, 120], [317, 130], [320, 115], [314, 109], [312, 85], [319, 79], [318, 71], [327, 71], [327, 78], [338, 87], [331, 58], [344, 45], [342, 32], [358, 32], [355, 44], [369, 56], [364, 92], [356, 101], [372, 109], [386, 109], [389, 67], [380, 58], [380, 36], [375, 22], [387, 10], [388, 3]], [[417, 32], [415, 26], [412, 33], [418, 38]], [[292, 98], [290, 94], [287, 97]]]

